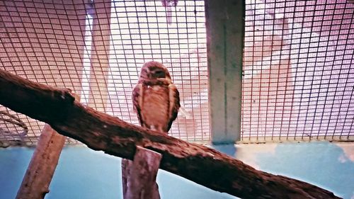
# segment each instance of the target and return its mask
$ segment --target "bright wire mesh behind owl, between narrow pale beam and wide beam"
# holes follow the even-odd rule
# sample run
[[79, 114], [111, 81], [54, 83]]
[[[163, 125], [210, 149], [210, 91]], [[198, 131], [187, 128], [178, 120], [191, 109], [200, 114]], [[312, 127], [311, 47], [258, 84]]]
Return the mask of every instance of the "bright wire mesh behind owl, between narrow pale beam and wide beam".
[[190, 114], [179, 114], [170, 135], [189, 141], [209, 141], [207, 50], [204, 1], [116, 1], [111, 19], [108, 113], [137, 124], [132, 113], [132, 87], [144, 62], [163, 62]]

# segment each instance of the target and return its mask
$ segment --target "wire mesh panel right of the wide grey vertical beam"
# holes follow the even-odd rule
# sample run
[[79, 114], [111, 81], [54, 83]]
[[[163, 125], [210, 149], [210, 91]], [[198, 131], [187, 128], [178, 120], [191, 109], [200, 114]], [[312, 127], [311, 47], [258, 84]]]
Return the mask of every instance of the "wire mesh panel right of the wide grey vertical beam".
[[244, 142], [354, 140], [354, 4], [246, 0]]

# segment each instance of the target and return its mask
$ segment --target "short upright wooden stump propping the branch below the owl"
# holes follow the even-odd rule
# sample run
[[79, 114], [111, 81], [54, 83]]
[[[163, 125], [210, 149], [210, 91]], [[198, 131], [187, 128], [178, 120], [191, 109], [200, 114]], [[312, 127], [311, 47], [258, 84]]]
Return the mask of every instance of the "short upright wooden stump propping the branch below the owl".
[[124, 199], [160, 199], [156, 183], [161, 154], [137, 147], [134, 161], [122, 159]]

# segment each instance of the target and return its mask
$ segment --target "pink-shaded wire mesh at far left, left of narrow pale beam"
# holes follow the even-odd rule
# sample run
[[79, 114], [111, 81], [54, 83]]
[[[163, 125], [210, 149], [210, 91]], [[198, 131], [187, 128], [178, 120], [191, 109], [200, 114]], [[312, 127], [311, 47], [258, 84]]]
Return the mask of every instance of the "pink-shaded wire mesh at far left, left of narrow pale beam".
[[[79, 91], [80, 52], [84, 50], [80, 22], [85, 22], [86, 16], [85, 9], [76, 12], [79, 6], [0, 1], [0, 69], [42, 84]], [[37, 142], [44, 123], [3, 106], [0, 111], [1, 145]]]

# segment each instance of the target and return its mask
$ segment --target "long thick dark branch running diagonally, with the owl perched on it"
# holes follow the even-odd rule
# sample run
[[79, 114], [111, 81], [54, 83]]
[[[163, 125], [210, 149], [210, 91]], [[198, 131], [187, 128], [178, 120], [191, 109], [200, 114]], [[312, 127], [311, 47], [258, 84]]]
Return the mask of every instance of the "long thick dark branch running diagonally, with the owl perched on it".
[[[50, 124], [57, 132], [125, 159], [136, 146], [162, 154], [160, 168], [240, 198], [338, 198], [309, 183], [257, 171], [215, 149], [125, 123], [74, 101], [67, 89], [0, 70], [0, 104]], [[55, 113], [55, 114], [53, 114]]]

